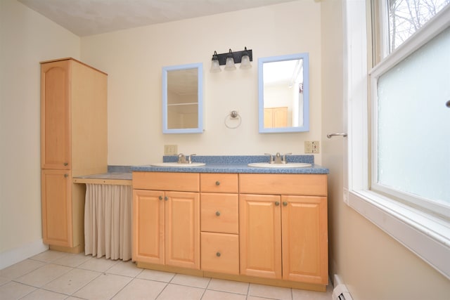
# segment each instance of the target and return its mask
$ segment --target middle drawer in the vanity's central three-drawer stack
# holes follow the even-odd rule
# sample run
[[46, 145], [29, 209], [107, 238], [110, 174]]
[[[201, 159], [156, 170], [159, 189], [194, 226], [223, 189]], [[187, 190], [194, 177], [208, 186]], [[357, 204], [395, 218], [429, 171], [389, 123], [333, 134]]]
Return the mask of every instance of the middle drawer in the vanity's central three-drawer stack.
[[200, 194], [200, 230], [239, 233], [237, 194]]

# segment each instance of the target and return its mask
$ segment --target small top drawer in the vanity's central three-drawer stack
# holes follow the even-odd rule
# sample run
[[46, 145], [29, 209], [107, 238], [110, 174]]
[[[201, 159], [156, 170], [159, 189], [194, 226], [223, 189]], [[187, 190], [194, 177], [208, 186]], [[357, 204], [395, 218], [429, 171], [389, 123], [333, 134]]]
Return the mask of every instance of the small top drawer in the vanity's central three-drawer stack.
[[238, 174], [200, 174], [200, 191], [202, 192], [238, 193], [238, 190]]

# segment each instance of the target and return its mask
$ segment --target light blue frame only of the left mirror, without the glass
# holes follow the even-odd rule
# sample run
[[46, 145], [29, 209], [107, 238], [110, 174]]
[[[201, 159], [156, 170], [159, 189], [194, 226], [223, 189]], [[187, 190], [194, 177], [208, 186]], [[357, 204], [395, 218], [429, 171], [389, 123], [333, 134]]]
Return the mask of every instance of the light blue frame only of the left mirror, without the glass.
[[[198, 71], [198, 127], [169, 129], [167, 126], [167, 72], [186, 69], [197, 69]], [[203, 63], [162, 67], [162, 133], [203, 133]]]

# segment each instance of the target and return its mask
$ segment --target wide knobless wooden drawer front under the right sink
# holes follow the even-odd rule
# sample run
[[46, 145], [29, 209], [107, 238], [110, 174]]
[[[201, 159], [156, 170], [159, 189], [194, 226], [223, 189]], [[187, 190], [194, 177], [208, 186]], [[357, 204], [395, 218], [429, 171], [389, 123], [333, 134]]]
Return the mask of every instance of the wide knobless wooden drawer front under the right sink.
[[240, 193], [327, 195], [326, 174], [239, 174]]

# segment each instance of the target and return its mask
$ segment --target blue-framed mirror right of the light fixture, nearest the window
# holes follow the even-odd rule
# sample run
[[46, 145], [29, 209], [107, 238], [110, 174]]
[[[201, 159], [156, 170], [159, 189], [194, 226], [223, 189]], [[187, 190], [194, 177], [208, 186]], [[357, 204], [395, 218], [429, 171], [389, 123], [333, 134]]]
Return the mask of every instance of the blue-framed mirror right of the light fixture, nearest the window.
[[309, 56], [258, 59], [259, 133], [309, 131]]

